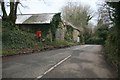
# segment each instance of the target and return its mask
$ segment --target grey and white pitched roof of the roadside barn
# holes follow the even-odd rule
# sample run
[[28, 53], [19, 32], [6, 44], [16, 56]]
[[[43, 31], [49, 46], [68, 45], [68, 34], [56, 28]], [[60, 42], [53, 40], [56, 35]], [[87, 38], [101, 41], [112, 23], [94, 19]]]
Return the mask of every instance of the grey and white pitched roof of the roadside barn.
[[16, 24], [50, 23], [54, 15], [55, 13], [19, 14], [17, 15]]

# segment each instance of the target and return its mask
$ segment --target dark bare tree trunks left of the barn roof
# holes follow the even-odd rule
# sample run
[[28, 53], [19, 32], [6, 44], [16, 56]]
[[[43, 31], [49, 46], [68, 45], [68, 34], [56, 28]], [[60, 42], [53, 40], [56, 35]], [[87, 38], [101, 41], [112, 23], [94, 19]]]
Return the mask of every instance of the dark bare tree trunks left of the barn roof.
[[5, 5], [5, 1], [1, 1], [1, 10], [2, 10], [2, 21], [7, 21], [7, 22], [11, 22], [13, 24], [15, 24], [16, 18], [17, 18], [17, 8], [18, 8], [18, 4], [20, 4], [20, 0], [9, 0], [9, 2], [7, 2], [9, 4], [10, 7], [10, 13], [9, 15], [7, 15], [7, 11], [6, 11], [6, 5]]

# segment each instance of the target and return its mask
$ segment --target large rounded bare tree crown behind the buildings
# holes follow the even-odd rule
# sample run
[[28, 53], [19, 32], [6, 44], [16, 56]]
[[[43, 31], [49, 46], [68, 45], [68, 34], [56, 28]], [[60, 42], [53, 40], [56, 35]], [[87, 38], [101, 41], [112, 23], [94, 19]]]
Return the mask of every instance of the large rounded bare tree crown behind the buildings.
[[89, 6], [81, 6], [81, 4], [72, 2], [62, 8], [63, 19], [78, 28], [88, 25], [88, 21], [93, 17], [89, 12]]

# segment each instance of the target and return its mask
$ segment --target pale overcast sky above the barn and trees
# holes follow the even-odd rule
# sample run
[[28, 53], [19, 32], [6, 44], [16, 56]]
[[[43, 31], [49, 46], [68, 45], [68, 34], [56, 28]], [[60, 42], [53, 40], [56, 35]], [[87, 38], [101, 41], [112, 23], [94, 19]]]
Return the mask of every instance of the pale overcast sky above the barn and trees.
[[[18, 13], [22, 14], [39, 14], [39, 13], [58, 13], [61, 8], [67, 4], [67, 2], [77, 2], [82, 5], [89, 5], [92, 12], [97, 12], [98, 0], [22, 0], [22, 4], [26, 6], [23, 8], [19, 6]], [[7, 9], [9, 14], [9, 9]], [[94, 25], [97, 24], [97, 15], [90, 21]]]

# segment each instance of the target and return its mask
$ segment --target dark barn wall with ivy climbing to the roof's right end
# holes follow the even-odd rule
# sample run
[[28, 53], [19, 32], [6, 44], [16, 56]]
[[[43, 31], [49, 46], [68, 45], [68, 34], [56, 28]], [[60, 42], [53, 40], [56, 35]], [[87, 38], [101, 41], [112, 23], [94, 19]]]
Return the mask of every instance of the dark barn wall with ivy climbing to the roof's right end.
[[[57, 13], [53, 16], [50, 23], [46, 24], [18, 24], [19, 28], [35, 33], [36, 31], [41, 31], [41, 38], [46, 41], [55, 41], [56, 40], [56, 31], [61, 28], [61, 13]], [[61, 32], [61, 31], [59, 31]], [[61, 37], [60, 37], [61, 38]]]

